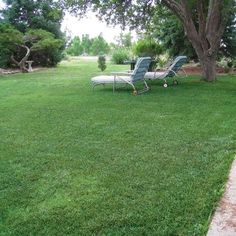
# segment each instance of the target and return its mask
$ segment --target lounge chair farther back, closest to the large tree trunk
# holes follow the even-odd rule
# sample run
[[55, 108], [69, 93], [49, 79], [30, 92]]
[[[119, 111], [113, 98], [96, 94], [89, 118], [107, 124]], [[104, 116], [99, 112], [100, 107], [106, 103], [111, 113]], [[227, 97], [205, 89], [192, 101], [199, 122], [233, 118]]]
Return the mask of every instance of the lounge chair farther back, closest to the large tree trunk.
[[173, 83], [177, 85], [178, 84], [178, 80], [176, 79], [176, 76], [178, 76], [177, 73], [179, 70], [181, 70], [181, 67], [186, 62], [187, 62], [186, 56], [178, 56], [173, 60], [173, 62], [169, 65], [169, 67], [165, 71], [147, 72], [144, 78], [146, 80], [162, 79], [164, 80], [163, 86], [166, 88], [168, 87], [166, 79], [168, 77], [174, 77]]

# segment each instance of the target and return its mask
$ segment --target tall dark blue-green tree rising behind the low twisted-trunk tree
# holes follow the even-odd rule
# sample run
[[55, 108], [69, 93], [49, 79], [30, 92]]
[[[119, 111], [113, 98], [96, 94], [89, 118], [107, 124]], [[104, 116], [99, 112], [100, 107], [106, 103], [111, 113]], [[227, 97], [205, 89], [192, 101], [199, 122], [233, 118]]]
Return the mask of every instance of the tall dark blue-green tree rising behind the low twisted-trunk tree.
[[6, 8], [2, 11], [5, 21], [20, 32], [29, 28], [44, 29], [57, 38], [62, 37], [60, 24], [63, 11], [54, 0], [5, 0]]

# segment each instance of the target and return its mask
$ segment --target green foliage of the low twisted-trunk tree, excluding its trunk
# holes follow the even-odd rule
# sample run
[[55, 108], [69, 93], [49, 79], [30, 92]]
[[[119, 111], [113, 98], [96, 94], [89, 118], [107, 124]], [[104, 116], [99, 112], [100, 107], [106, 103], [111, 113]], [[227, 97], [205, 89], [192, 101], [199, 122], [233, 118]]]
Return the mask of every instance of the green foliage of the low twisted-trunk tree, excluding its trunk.
[[27, 45], [31, 49], [29, 60], [41, 66], [55, 66], [61, 60], [64, 49], [64, 41], [45, 30], [30, 29], [23, 34], [11, 25], [0, 24], [1, 67], [11, 66], [11, 55], [22, 58], [25, 49], [19, 45]]

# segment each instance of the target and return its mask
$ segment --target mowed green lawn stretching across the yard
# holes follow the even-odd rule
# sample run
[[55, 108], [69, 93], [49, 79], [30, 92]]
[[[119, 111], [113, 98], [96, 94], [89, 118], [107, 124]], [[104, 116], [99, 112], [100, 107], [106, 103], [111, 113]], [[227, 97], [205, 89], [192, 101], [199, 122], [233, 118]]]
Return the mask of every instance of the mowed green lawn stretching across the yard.
[[0, 77], [0, 235], [205, 235], [236, 150], [236, 77], [132, 96], [93, 91], [98, 74]]

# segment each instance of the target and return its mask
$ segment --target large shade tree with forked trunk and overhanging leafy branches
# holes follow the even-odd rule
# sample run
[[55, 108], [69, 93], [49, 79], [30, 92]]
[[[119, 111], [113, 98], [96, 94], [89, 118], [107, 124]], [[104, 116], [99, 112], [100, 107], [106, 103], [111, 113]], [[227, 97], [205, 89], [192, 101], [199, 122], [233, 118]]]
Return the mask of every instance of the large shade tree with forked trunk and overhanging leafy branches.
[[[227, 16], [234, 10], [234, 0], [117, 0], [75, 1], [65, 0], [71, 11], [83, 15], [92, 8], [101, 19], [111, 24], [129, 25], [131, 28], [149, 28], [149, 22], [159, 7], [164, 4], [181, 21], [184, 32], [193, 46], [202, 66], [203, 78], [216, 78], [216, 58]], [[235, 12], [233, 13], [235, 14]]]

